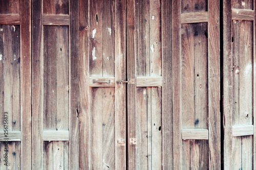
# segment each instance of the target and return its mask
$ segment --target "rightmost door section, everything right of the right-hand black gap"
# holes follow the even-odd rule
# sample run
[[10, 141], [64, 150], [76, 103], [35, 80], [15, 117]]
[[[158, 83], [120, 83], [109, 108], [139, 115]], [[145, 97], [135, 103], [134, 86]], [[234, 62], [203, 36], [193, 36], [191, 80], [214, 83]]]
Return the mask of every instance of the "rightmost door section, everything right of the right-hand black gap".
[[224, 1], [224, 169], [255, 169], [255, 1]]

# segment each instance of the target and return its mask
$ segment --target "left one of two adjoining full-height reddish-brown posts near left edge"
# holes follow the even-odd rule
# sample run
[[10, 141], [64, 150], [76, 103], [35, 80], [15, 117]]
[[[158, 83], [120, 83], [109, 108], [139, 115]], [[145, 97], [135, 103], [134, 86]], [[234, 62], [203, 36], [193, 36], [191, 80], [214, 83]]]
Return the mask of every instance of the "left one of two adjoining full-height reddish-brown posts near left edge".
[[22, 169], [31, 169], [31, 0], [20, 1], [20, 33], [20, 157]]

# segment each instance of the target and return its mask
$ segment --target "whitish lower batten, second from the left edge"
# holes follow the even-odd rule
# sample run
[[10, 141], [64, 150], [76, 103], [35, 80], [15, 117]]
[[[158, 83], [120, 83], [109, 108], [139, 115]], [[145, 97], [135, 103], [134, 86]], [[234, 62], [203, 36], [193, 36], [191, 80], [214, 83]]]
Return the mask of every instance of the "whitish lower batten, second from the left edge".
[[44, 141], [66, 141], [69, 140], [68, 130], [46, 130], [42, 132], [42, 140]]

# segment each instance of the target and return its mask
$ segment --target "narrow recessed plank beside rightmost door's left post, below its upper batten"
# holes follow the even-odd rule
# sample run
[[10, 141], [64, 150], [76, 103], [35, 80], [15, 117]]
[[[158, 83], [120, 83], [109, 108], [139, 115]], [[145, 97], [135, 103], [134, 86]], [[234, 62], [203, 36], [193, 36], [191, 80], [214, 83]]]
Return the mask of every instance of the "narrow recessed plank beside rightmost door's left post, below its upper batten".
[[[240, 125], [239, 121], [239, 25], [240, 21], [232, 21], [232, 125]], [[232, 138], [232, 168], [242, 168], [241, 137]]]

